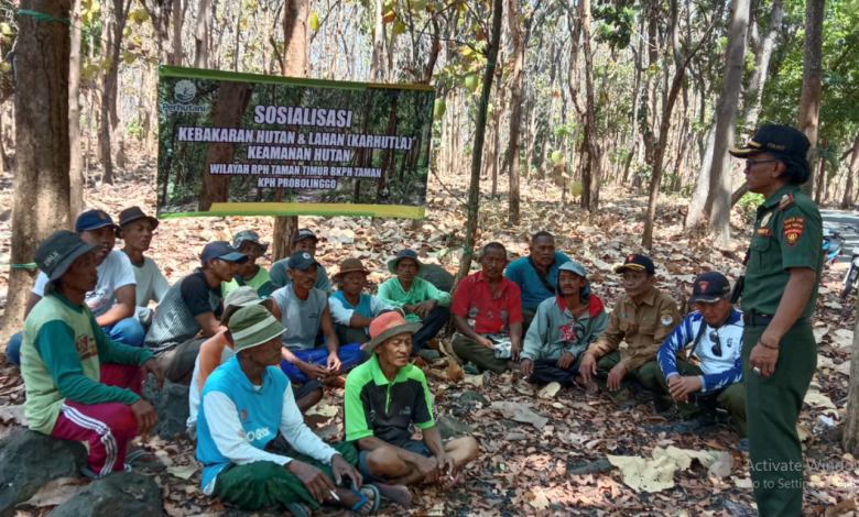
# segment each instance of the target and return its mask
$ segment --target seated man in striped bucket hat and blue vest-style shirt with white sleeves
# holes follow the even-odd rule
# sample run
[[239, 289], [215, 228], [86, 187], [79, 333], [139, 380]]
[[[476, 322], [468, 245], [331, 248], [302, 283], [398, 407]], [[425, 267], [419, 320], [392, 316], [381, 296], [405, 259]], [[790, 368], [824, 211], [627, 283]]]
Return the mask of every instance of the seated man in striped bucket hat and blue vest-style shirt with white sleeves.
[[[326, 444], [304, 425], [290, 381], [278, 369], [284, 328], [253, 305], [230, 318], [236, 356], [218, 366], [203, 387], [197, 460], [203, 492], [246, 510], [285, 507], [306, 516], [323, 503], [369, 515], [379, 491], [361, 486], [350, 443]], [[294, 448], [268, 452], [280, 431]], [[341, 487], [348, 479], [352, 488]]]

